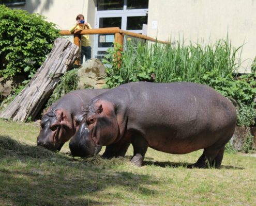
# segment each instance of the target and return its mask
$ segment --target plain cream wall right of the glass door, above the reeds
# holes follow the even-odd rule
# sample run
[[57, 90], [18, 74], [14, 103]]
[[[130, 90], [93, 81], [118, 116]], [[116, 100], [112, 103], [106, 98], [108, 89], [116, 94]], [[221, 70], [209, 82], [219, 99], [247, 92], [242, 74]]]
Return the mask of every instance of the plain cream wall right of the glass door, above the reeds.
[[[149, 0], [147, 35], [159, 40], [198, 38], [213, 43], [229, 33], [234, 47], [243, 45], [243, 68], [250, 72], [256, 56], [255, 0]], [[243, 72], [241, 68], [240, 72]]]

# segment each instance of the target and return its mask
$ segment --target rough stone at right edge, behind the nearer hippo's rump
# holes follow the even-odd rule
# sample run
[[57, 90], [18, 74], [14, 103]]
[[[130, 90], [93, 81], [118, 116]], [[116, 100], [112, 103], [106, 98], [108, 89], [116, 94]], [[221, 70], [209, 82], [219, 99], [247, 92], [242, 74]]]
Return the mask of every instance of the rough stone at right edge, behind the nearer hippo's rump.
[[251, 135], [249, 127], [235, 127], [235, 132], [230, 140], [230, 143], [236, 151], [243, 150], [243, 145], [248, 135]]

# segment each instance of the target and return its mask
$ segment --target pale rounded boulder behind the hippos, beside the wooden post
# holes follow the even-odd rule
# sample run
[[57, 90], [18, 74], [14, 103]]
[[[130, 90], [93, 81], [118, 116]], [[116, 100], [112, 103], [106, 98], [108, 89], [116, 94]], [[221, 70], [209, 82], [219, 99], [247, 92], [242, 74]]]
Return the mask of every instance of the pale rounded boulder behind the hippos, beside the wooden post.
[[106, 67], [97, 58], [89, 59], [78, 69], [80, 81], [78, 89], [94, 88], [101, 89], [107, 77]]

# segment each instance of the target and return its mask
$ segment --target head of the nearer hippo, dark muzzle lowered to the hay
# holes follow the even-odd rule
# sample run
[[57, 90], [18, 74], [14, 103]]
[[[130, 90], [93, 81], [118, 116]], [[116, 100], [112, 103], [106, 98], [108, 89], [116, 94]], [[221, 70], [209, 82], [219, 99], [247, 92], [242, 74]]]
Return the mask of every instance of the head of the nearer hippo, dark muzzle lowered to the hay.
[[69, 143], [73, 156], [88, 157], [95, 155], [103, 145], [112, 144], [119, 134], [115, 108], [110, 102], [91, 101], [78, 131]]

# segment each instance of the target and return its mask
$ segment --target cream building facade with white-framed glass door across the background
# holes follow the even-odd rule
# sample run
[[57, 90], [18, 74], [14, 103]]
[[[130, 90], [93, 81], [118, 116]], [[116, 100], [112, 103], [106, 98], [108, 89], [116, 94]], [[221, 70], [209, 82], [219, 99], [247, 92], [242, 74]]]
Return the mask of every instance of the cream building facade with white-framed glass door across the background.
[[[82, 13], [93, 28], [120, 27], [162, 41], [183, 38], [215, 43], [227, 39], [243, 45], [241, 72], [250, 72], [256, 56], [254, 0], [3, 0], [8, 6], [39, 13], [59, 29], [69, 29]], [[72, 41], [72, 38], [71, 38]], [[100, 58], [113, 35], [91, 35], [93, 57]]]

